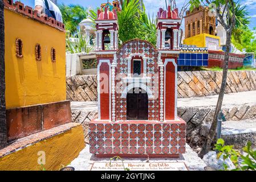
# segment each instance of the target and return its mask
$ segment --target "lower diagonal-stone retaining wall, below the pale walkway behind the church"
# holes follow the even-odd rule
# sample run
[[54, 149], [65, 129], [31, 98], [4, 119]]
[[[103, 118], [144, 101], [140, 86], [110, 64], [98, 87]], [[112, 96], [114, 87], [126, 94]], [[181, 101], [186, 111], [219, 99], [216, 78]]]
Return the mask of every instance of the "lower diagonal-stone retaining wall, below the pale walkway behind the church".
[[[215, 107], [178, 107], [178, 116], [187, 123], [188, 142], [193, 146], [200, 145], [200, 130], [205, 124], [213, 121]], [[241, 121], [256, 118], [256, 105], [238, 105], [224, 107], [223, 112], [227, 122]], [[84, 135], [88, 142], [88, 123], [97, 117], [97, 109], [76, 110], [72, 109], [72, 121], [82, 123]]]

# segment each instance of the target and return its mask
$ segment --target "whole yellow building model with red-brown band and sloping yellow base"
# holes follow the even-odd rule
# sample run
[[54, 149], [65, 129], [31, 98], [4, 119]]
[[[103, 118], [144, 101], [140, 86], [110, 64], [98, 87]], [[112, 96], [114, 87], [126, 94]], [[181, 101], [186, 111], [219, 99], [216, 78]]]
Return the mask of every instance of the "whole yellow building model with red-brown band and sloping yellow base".
[[8, 146], [0, 150], [0, 170], [59, 170], [84, 148], [66, 101], [64, 24], [3, 2]]

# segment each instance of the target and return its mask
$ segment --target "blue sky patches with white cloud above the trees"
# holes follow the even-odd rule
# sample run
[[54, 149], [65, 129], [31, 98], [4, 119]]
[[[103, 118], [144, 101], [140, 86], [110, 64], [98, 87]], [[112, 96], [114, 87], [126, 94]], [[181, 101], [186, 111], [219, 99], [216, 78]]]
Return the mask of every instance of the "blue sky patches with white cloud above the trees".
[[[188, 0], [186, 0], [188, 1]], [[14, 0], [15, 2], [15, 0]], [[34, 7], [34, 0], [21, 0], [25, 5]], [[85, 7], [99, 7], [101, 3], [105, 3], [107, 0], [58, 0], [58, 3], [64, 3], [65, 5], [78, 4]], [[109, 0], [112, 2], [112, 0]], [[256, 27], [256, 0], [241, 0], [243, 5], [247, 6], [249, 15], [251, 16], [250, 28]], [[177, 0], [177, 6], [181, 9], [184, 0]], [[157, 14], [160, 7], [165, 7], [165, 0], [144, 0], [145, 8], [148, 14]]]

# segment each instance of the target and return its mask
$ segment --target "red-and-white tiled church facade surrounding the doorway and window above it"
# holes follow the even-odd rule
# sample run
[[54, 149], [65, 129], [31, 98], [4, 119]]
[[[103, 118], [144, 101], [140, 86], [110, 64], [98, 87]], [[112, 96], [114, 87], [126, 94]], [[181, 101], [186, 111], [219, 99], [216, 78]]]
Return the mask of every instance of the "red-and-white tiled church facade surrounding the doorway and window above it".
[[[135, 58], [140, 59], [147, 59], [147, 69], [143, 69], [145, 72], [144, 74], [148, 74], [149, 77], [152, 77], [152, 81], [150, 83], [147, 83], [147, 86], [152, 90], [153, 93], [157, 92], [158, 88], [158, 77], [154, 77], [152, 75], [157, 74], [159, 72], [158, 68], [158, 54], [155, 48], [143, 40], [131, 40], [123, 45], [123, 47], [120, 49], [119, 52], [117, 52], [117, 75], [121, 75], [122, 77], [127, 77], [128, 73], [131, 71], [131, 64], [128, 64], [129, 61], [131, 63], [131, 57], [132, 54], [139, 53], [143, 56], [137, 56], [135, 55]], [[143, 65], [145, 66], [145, 65]], [[149, 75], [151, 74], [151, 75]], [[120, 80], [116, 81], [116, 84], [119, 84]], [[124, 85], [122, 89], [125, 88]], [[157, 93], [156, 93], [157, 94]], [[116, 95], [116, 120], [117, 121], [126, 121], [127, 120], [127, 108], [126, 108], [126, 98], [120, 98], [121, 94]], [[150, 101], [151, 102], [151, 101]], [[149, 121], [157, 121], [159, 118], [158, 113], [158, 98], [156, 100], [152, 101], [153, 107], [150, 107], [149, 109], [152, 109], [149, 112], [148, 120]]]

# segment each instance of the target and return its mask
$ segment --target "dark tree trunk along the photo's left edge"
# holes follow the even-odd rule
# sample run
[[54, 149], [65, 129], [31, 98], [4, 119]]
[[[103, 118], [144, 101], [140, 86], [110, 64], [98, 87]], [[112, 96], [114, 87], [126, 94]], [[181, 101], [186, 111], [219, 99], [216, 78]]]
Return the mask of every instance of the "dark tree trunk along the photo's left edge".
[[5, 19], [0, 0], [0, 149], [7, 144], [5, 108]]

